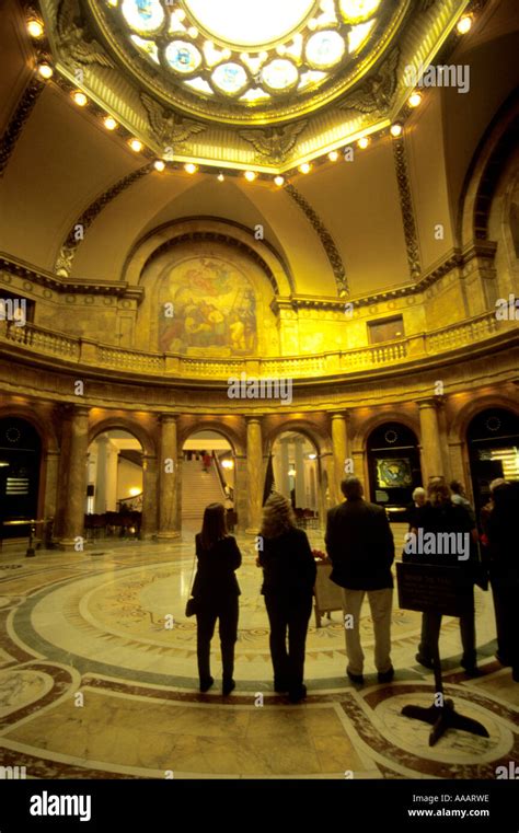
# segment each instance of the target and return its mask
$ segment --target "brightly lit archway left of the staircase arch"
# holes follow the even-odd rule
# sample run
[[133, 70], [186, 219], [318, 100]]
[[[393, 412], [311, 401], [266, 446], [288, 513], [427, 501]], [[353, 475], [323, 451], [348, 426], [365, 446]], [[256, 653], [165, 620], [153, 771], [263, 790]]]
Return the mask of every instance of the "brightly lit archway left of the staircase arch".
[[89, 446], [88, 537], [139, 537], [142, 523], [142, 446], [129, 431], [109, 429]]

